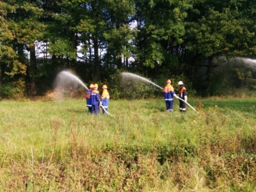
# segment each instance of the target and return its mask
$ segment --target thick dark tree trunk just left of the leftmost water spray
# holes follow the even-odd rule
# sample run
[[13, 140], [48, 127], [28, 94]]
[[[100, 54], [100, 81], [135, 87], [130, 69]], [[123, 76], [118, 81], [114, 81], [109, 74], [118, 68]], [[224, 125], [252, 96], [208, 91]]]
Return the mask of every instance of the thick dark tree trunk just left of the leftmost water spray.
[[36, 51], [35, 51], [35, 44], [29, 47], [30, 49], [30, 67], [29, 67], [29, 74], [30, 74], [30, 85], [31, 85], [31, 95], [36, 95]]

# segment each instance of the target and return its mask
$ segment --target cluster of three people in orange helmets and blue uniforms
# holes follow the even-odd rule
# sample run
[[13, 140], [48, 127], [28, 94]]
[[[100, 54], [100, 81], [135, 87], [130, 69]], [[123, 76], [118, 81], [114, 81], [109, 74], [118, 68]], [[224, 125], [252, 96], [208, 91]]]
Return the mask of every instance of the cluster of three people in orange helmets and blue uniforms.
[[109, 93], [108, 87], [106, 84], [102, 85], [102, 95], [100, 97], [100, 93], [98, 91], [98, 84], [90, 84], [89, 90], [86, 93], [86, 104], [88, 107], [88, 111], [91, 114], [99, 115], [100, 107], [102, 108], [102, 113], [105, 114], [108, 111], [109, 104]]

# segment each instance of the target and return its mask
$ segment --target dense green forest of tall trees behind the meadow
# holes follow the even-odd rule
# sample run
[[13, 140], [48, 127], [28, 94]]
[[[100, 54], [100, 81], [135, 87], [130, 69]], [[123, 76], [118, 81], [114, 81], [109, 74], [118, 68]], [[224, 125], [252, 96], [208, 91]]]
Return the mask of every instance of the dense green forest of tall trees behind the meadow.
[[1, 0], [0, 26], [1, 98], [44, 95], [63, 69], [116, 98], [124, 71], [256, 90], [254, 0]]

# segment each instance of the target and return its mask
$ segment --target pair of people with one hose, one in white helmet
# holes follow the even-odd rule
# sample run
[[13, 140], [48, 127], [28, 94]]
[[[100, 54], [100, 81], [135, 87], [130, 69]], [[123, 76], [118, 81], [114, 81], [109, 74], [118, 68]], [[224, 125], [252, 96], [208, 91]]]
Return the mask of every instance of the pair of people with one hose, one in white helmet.
[[[188, 100], [188, 93], [186, 88], [184, 87], [184, 83], [179, 81], [179, 97], [175, 94], [173, 86], [171, 85], [172, 81], [167, 79], [166, 86], [164, 86], [164, 100], [166, 103], [166, 110], [172, 112], [173, 111], [173, 99], [176, 97], [180, 101], [180, 112], [186, 112], [186, 102]], [[180, 100], [182, 99], [182, 100]]]

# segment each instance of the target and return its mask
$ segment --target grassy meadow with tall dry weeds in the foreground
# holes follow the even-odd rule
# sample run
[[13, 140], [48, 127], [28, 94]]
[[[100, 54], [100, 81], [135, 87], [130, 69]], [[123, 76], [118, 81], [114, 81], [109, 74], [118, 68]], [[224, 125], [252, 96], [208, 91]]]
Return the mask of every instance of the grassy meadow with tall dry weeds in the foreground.
[[0, 101], [0, 191], [256, 191], [256, 99]]

